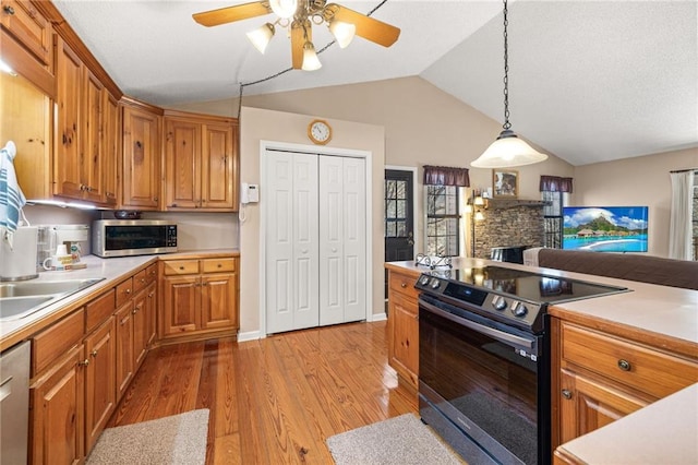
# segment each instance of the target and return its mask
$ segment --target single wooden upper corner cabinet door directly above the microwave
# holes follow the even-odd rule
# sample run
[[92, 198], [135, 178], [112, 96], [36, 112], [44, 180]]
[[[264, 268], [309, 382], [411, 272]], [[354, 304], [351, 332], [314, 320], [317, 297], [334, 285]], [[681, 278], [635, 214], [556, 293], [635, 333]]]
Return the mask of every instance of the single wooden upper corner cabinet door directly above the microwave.
[[160, 117], [123, 108], [123, 206], [155, 210], [160, 189]]

